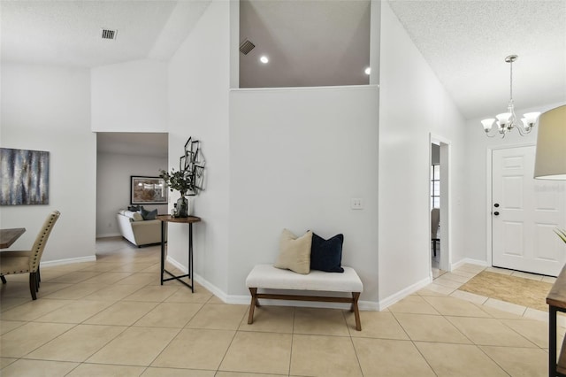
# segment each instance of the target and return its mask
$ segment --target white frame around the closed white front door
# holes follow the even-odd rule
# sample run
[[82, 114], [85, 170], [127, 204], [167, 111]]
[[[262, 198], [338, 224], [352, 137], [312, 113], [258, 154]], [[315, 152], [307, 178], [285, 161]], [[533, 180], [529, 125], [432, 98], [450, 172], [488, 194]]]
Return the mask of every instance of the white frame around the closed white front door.
[[493, 145], [486, 150], [486, 261], [493, 267], [493, 150], [509, 150], [511, 148], [536, 147], [536, 142], [519, 144]]

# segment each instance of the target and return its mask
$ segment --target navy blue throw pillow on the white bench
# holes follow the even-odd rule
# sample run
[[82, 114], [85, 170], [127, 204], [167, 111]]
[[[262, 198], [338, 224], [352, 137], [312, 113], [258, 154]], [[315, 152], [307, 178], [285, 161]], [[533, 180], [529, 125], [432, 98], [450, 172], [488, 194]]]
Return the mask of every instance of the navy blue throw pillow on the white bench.
[[319, 235], [312, 234], [310, 246], [310, 269], [325, 271], [326, 273], [343, 273], [342, 243], [344, 235], [334, 235], [325, 240]]

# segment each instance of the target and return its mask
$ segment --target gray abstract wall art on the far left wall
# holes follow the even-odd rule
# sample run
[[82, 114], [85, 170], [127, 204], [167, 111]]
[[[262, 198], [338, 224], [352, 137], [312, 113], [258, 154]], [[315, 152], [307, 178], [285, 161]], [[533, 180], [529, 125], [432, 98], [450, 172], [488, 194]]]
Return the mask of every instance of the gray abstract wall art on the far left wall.
[[50, 152], [0, 148], [0, 205], [50, 204]]

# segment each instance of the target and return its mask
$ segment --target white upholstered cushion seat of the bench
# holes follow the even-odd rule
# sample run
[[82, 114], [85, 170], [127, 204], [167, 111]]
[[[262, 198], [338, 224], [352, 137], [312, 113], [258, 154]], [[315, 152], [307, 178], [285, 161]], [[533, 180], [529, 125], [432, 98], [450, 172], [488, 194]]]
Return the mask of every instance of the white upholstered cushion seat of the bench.
[[343, 268], [344, 273], [325, 273], [313, 270], [308, 274], [301, 274], [281, 270], [272, 265], [256, 265], [246, 279], [246, 287], [362, 292], [363, 284], [356, 271], [347, 266]]

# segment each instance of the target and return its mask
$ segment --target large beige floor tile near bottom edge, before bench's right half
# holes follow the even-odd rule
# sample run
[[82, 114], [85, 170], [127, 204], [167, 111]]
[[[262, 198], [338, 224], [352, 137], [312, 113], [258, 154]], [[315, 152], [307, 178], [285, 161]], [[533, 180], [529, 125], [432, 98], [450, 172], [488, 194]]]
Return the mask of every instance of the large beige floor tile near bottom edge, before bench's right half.
[[362, 370], [349, 337], [293, 335], [290, 374], [349, 377]]

